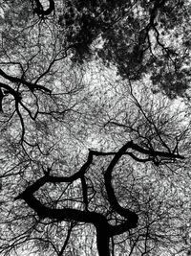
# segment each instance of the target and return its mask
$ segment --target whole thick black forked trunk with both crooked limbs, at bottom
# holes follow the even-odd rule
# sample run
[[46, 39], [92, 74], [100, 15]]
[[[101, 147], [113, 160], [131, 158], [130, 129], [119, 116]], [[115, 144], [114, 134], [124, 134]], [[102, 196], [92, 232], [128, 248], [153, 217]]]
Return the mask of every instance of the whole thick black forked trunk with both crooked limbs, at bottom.
[[[183, 158], [182, 156], [178, 154], [173, 154], [169, 152], [162, 152], [162, 151], [148, 151], [141, 147], [139, 147], [137, 144], [135, 144], [133, 141], [127, 142], [123, 147], [119, 149], [115, 153], [114, 158], [110, 162], [105, 175], [104, 175], [104, 181], [105, 181], [105, 187], [108, 195], [108, 200], [110, 202], [110, 205], [112, 208], [122, 217], [126, 219], [121, 224], [118, 224], [116, 226], [113, 226], [112, 224], [108, 223], [107, 218], [104, 215], [101, 215], [96, 212], [89, 212], [87, 211], [87, 207], [85, 211], [73, 209], [73, 208], [63, 208], [63, 209], [53, 209], [50, 208], [37, 198], [33, 196], [33, 194], [38, 191], [42, 186], [44, 186], [46, 183], [51, 182], [73, 182], [74, 180], [80, 178], [82, 182], [82, 193], [85, 194], [85, 204], [87, 206], [87, 187], [86, 184], [84, 184], [85, 181], [85, 173], [87, 172], [88, 168], [93, 162], [93, 156], [94, 155], [111, 155], [114, 154], [114, 152], [99, 152], [99, 151], [89, 151], [88, 159], [82, 165], [80, 170], [71, 176], [51, 176], [50, 172], [47, 172], [43, 177], [36, 180], [31, 186], [27, 187], [26, 190], [20, 194], [15, 199], [22, 198], [25, 200], [25, 202], [37, 213], [37, 215], [40, 218], [49, 218], [56, 221], [77, 221], [77, 222], [85, 222], [85, 223], [92, 223], [96, 227], [96, 243], [97, 243], [97, 249], [100, 256], [109, 256], [110, 255], [110, 249], [109, 249], [109, 240], [110, 237], [113, 237], [115, 235], [121, 234], [123, 232], [128, 231], [131, 228], [135, 228], [138, 225], [138, 215], [135, 212], [130, 211], [129, 209], [123, 208], [119, 205], [117, 201], [117, 197], [115, 195], [114, 188], [112, 186], [112, 172], [114, 168], [117, 165], [118, 160], [123, 154], [130, 154], [127, 152], [128, 149], [139, 151], [143, 154], [149, 154], [152, 156], [156, 155], [162, 155], [165, 157], [177, 157], [177, 158]], [[134, 155], [131, 155], [134, 159]], [[152, 161], [152, 158], [151, 158]]]

